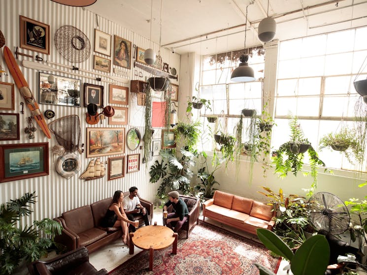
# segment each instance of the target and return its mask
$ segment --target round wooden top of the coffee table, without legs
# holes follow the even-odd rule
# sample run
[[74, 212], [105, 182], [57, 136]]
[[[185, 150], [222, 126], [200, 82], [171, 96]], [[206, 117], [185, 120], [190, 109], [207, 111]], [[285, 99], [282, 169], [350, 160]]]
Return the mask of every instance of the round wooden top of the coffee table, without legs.
[[173, 244], [173, 230], [162, 225], [148, 225], [137, 229], [132, 238], [133, 244], [144, 250], [153, 246], [154, 250], [163, 249]]

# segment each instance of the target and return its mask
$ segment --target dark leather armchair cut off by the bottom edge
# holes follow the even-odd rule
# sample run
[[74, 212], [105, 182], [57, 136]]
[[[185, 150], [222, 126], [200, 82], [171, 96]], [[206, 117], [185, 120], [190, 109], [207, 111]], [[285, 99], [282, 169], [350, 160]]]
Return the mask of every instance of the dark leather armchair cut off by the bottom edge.
[[89, 263], [88, 249], [84, 246], [47, 261], [34, 261], [28, 265], [31, 275], [105, 275]]

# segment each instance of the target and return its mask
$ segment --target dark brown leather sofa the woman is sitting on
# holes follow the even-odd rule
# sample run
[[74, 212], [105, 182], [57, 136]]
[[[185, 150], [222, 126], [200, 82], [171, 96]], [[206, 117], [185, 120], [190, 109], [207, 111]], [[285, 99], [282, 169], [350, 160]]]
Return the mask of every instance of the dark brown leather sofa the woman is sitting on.
[[[124, 196], [129, 196], [129, 192], [124, 192]], [[139, 197], [139, 195], [138, 195]], [[91, 253], [100, 246], [110, 243], [122, 236], [121, 228], [101, 227], [100, 221], [106, 214], [107, 208], [112, 198], [100, 200], [69, 210], [54, 218], [64, 227], [61, 235], [55, 237], [55, 241], [67, 246], [67, 250], [73, 250], [81, 246], [88, 248]], [[139, 197], [141, 205], [148, 211], [148, 219], [151, 223], [153, 218], [153, 203]], [[135, 220], [139, 220], [139, 226], [144, 224], [142, 215], [137, 215]]]

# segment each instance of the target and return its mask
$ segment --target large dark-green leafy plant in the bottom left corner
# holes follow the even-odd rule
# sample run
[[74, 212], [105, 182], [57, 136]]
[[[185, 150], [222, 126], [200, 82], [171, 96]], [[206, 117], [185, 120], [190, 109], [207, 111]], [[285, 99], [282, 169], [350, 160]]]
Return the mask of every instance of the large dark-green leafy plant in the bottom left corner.
[[54, 237], [63, 230], [60, 223], [49, 218], [22, 226], [21, 218], [32, 214], [30, 204], [36, 202], [36, 197], [35, 192], [26, 193], [0, 206], [1, 275], [12, 274], [23, 258], [30, 263], [45, 256], [48, 248], [55, 245]]

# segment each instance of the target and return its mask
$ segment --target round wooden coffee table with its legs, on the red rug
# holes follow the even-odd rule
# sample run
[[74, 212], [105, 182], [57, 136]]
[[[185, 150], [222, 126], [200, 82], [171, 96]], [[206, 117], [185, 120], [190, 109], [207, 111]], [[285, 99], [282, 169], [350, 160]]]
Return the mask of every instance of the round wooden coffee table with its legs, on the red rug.
[[164, 249], [172, 244], [172, 254], [177, 254], [177, 233], [167, 226], [143, 226], [130, 233], [129, 254], [134, 253], [134, 245], [143, 250], [149, 250], [149, 270], [153, 271], [153, 251]]

